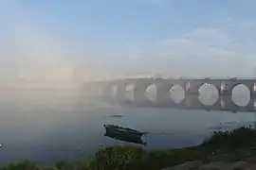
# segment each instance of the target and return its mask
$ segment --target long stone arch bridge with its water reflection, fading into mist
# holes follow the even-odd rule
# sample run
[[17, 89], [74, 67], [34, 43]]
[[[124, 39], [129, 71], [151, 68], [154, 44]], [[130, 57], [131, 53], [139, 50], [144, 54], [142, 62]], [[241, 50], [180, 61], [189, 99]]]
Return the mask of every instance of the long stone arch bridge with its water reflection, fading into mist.
[[[205, 84], [215, 87], [219, 94], [218, 100], [211, 106], [205, 106], [198, 100], [199, 90]], [[246, 86], [250, 93], [250, 101], [245, 107], [237, 106], [231, 99], [233, 89], [240, 84]], [[131, 85], [133, 86], [132, 101], [126, 97], [127, 87]], [[154, 85], [156, 89], [156, 100], [154, 102], [146, 96], [147, 89], [151, 85]], [[176, 85], [180, 86], [185, 93], [185, 98], [179, 103], [175, 103], [170, 97], [170, 90]], [[206, 110], [256, 110], [256, 102], [254, 102], [254, 98], [256, 98], [256, 79], [250, 78], [126, 78], [88, 82], [84, 84], [83, 89], [91, 97], [139, 106], [187, 109], [202, 109], [203, 107]]]

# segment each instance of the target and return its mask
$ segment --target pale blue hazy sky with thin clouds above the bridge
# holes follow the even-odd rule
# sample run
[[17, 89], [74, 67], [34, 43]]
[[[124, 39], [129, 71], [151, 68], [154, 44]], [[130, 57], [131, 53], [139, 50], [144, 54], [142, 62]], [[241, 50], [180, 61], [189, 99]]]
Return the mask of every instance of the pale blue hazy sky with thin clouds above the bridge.
[[2, 0], [2, 86], [251, 77], [254, 0]]

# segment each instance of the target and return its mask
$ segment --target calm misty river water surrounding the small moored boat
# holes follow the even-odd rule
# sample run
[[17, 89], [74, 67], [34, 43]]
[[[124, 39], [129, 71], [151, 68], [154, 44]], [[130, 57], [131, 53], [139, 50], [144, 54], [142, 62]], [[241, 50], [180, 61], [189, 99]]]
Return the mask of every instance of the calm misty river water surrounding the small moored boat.
[[[122, 117], [111, 115], [122, 114]], [[200, 144], [222, 122], [254, 121], [250, 112], [128, 108], [92, 101], [80, 91], [1, 91], [0, 164], [31, 159], [48, 164], [91, 156], [104, 145], [128, 144], [104, 134], [104, 124], [150, 132], [147, 149]]]

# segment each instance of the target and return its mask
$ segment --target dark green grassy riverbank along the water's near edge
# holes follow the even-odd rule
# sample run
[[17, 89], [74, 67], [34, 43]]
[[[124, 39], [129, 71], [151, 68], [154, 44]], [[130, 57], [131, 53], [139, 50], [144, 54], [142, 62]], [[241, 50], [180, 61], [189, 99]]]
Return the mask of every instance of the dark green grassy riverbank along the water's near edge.
[[10, 163], [5, 170], [158, 170], [186, 161], [244, 161], [256, 156], [256, 129], [240, 127], [214, 132], [210, 139], [193, 147], [145, 151], [138, 147], [108, 147], [89, 160], [57, 162], [53, 167], [38, 167], [33, 161]]

